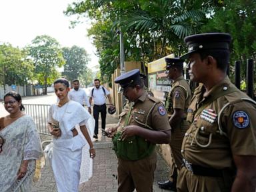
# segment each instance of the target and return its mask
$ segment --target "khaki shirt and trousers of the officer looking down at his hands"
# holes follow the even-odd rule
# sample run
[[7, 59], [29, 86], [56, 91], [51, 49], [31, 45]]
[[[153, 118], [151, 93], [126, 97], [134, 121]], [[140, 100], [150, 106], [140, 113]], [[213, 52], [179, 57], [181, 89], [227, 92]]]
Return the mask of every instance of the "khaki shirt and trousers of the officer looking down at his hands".
[[[117, 131], [123, 130], [127, 115], [129, 115], [129, 112], [122, 114]], [[138, 125], [149, 129], [145, 124], [156, 131], [171, 129], [162, 103], [154, 97], [149, 97], [146, 91], [131, 105], [131, 115], [129, 115], [128, 121], [128, 125]], [[136, 161], [118, 158], [118, 191], [131, 192], [135, 188], [137, 191], [152, 191], [156, 161], [155, 151], [149, 157]]]

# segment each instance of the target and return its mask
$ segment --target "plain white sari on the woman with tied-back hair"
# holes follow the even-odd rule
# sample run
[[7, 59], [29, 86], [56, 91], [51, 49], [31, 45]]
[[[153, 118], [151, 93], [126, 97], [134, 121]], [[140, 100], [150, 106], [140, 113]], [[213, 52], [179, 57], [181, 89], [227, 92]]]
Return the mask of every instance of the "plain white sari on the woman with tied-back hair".
[[[54, 104], [49, 109], [48, 122], [55, 123], [58, 121], [61, 129], [61, 137], [53, 138], [51, 161], [57, 190], [60, 192], [77, 192], [79, 190], [82, 151], [85, 151], [84, 155], [87, 156], [87, 161], [89, 157], [89, 148], [83, 149], [89, 145], [79, 130], [79, 125], [86, 125], [90, 117], [89, 112], [75, 101], [69, 101], [62, 107]], [[75, 127], [79, 134], [73, 137], [71, 130]], [[90, 133], [89, 130], [88, 132]], [[82, 176], [85, 180], [85, 175]]]

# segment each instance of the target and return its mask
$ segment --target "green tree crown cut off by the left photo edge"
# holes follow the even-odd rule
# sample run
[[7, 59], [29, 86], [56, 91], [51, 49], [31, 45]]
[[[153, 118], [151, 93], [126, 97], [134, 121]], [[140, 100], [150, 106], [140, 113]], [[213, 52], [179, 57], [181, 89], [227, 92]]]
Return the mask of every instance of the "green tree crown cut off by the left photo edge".
[[10, 44], [0, 45], [0, 84], [24, 85], [33, 79], [33, 63], [24, 49]]

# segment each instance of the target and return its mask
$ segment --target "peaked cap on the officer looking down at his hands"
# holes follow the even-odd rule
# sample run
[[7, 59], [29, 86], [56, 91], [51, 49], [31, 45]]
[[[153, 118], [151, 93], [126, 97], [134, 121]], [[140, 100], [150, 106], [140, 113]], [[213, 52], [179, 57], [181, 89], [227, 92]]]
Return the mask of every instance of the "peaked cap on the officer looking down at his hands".
[[119, 83], [119, 85], [123, 89], [131, 85], [136, 85], [137, 83], [140, 83], [140, 81], [141, 81], [141, 76], [139, 73], [139, 69], [133, 69], [115, 78], [115, 83]]

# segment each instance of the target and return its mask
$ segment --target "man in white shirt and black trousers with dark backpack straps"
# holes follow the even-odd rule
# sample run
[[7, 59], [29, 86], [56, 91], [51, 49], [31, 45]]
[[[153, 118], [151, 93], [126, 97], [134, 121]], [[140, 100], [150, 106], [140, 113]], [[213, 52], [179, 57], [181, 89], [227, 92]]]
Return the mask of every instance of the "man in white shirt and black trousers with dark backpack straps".
[[94, 87], [91, 89], [89, 103], [91, 105], [91, 101], [94, 101], [93, 117], [95, 119], [95, 129], [93, 137], [95, 139], [98, 139], [99, 133], [99, 113], [101, 113], [101, 129], [105, 129], [106, 127], [106, 96], [109, 98], [109, 104], [113, 107], [109, 91], [101, 85], [101, 81], [99, 81], [99, 79], [94, 79]]

